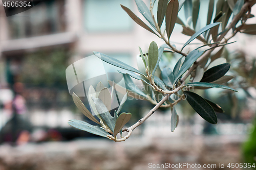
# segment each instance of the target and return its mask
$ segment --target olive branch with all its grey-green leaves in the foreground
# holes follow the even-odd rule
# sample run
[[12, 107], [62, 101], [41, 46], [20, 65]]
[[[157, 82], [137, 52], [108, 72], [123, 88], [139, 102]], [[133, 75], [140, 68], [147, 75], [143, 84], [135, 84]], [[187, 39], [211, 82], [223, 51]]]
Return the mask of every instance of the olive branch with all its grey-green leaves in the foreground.
[[[219, 0], [215, 6], [214, 0], [210, 0], [207, 14], [205, 14], [207, 15], [207, 25], [203, 26], [202, 28], [199, 24], [197, 24], [197, 22], [199, 23], [198, 16], [200, 12], [199, 0], [159, 0], [156, 18], [153, 12], [154, 2], [151, 1], [149, 8], [142, 0], [135, 0], [135, 2], [139, 12], [150, 25], [144, 23], [129, 8], [124, 7], [123, 5], [121, 5], [121, 7], [136, 23], [138, 23], [138, 25], [157, 35], [159, 38], [164, 40], [165, 44], [160, 45], [158, 48], [159, 45], [157, 45], [155, 41], [152, 41], [149, 45], [148, 53], [143, 53], [139, 47], [138, 53], [140, 56], [137, 57], [139, 70], [113, 57], [99, 52], [94, 52], [95, 56], [102, 61], [122, 68], [118, 69], [118, 71], [123, 75], [126, 88], [121, 87], [114, 82], [112, 82], [112, 85], [115, 85], [115, 87], [112, 88], [112, 94], [110, 94], [107, 88], [102, 87], [102, 84], [100, 83], [98, 84], [96, 91], [92, 86], [89, 88], [89, 103], [100, 121], [98, 121], [94, 116], [92, 116], [92, 114], [90, 114], [90, 112], [84, 107], [79, 99], [75, 98], [74, 102], [81, 110], [81, 112], [94, 122], [98, 124], [100, 123], [100, 130], [104, 130], [104, 132], [99, 132], [98, 127], [96, 127], [98, 130], [97, 132], [92, 132], [92, 130], [88, 128], [91, 128], [91, 126], [86, 124], [84, 125], [87, 128], [81, 128], [81, 124], [79, 124], [79, 128], [101, 136], [104, 134], [104, 137], [107, 133], [113, 134], [112, 136], [108, 135], [107, 137], [114, 141], [124, 141], [129, 138], [132, 131], [141, 125], [149, 116], [151, 116], [156, 109], [160, 107], [170, 107], [172, 110], [172, 116], [170, 117], [170, 129], [172, 132], [174, 132], [178, 125], [179, 119], [175, 105], [182, 100], [187, 100], [189, 105], [207, 122], [211, 124], [217, 124], [218, 119], [215, 112], [223, 113], [224, 110], [218, 104], [202, 98], [202, 96], [196, 94], [195, 92], [191, 92], [191, 90], [194, 89], [192, 87], [199, 89], [221, 88], [224, 89], [224, 91], [231, 90], [232, 92], [237, 92], [236, 89], [229, 87], [228, 84], [223, 85], [234, 77], [225, 76], [225, 74], [230, 69], [230, 63], [227, 63], [227, 57], [222, 56], [225, 49], [224, 46], [229, 44], [229, 39], [236, 35], [238, 32], [245, 34], [256, 34], [255, 24], [246, 24], [246, 20], [254, 16], [250, 13], [246, 14], [247, 11], [245, 8], [243, 8], [244, 1]], [[246, 3], [250, 3], [250, 6], [255, 4], [254, 2]], [[184, 8], [187, 22], [182, 21], [178, 17], [178, 13], [182, 7]], [[214, 19], [212, 19], [214, 9], [216, 9], [216, 15]], [[232, 13], [235, 17], [233, 17], [233, 19], [230, 21], [229, 18]], [[164, 18], [165, 26], [163, 25]], [[242, 25], [237, 27], [237, 23], [240, 20], [242, 21]], [[190, 36], [180, 50], [176, 48], [175, 44], [170, 44], [169, 40], [176, 23], [182, 25], [182, 34]], [[152, 27], [154, 31], [150, 27]], [[164, 32], [161, 31], [163, 30], [161, 27], [165, 27]], [[196, 31], [196, 28], [199, 31]], [[226, 37], [230, 30], [233, 31], [232, 36]], [[200, 40], [202, 44], [198, 45], [197, 48], [192, 49], [189, 52], [185, 47], [190, 45], [190, 43], [195, 39]], [[211, 52], [219, 46], [223, 47], [217, 53], [212, 55]], [[199, 48], [200, 51], [198, 50]], [[169, 63], [165, 63], [166, 67], [160, 69], [160, 61], [166, 58], [165, 57], [163, 59], [162, 57], [164, 56], [164, 53], [178, 53], [181, 55], [173, 69], [171, 68], [171, 65], [174, 64]], [[255, 68], [256, 66], [253, 63], [252, 71], [249, 73], [246, 72], [248, 75], [248, 80], [250, 80], [250, 83], [252, 84], [253, 82], [256, 82]], [[237, 71], [240, 72], [240, 74], [245, 74], [239, 69]], [[144, 88], [139, 89], [134, 84], [132, 78], [142, 81]], [[129, 92], [124, 95], [118, 110], [114, 111], [113, 117], [110, 114], [110, 101], [112, 101], [113, 91], [115, 91], [114, 88], [119, 90], [125, 89]], [[170, 95], [172, 94], [175, 95], [178, 100], [170, 100]], [[235, 96], [231, 94], [231, 92], [229, 92], [229, 94]], [[127, 100], [127, 96], [132, 96], [140, 100], [146, 100], [156, 106], [153, 109], [154, 111], [151, 110], [135, 125], [122, 129], [123, 126], [129, 122], [131, 118], [131, 113], [122, 113], [118, 116], [121, 108], [124, 105], [124, 102]], [[184, 96], [186, 98], [184, 98]], [[73, 123], [72, 126], [78, 127], [78, 123]], [[126, 131], [128, 134], [124, 137], [121, 136], [121, 139], [117, 139], [116, 135], [118, 133], [122, 135], [122, 131]]]

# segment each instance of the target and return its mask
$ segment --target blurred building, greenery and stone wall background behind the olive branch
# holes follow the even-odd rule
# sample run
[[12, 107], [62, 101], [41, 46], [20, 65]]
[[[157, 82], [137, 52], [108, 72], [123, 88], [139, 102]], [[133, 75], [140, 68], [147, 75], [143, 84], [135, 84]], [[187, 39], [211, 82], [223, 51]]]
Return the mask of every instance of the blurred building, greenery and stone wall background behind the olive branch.
[[[144, 2], [149, 6], [149, 0]], [[225, 113], [217, 113], [217, 125], [195, 114], [186, 101], [176, 108], [180, 121], [174, 133], [170, 109], [156, 111], [121, 143], [68, 125], [70, 119], [90, 122], [69, 94], [65, 72], [69, 65], [97, 51], [137, 67], [138, 46], [145, 52], [152, 41], [164, 44], [138, 26], [120, 4], [142, 18], [132, 0], [41, 1], [9, 17], [0, 2], [0, 170], [148, 169], [148, 163], [166, 162], [217, 164], [209, 169], [219, 169], [220, 163], [255, 163], [255, 35], [238, 33], [230, 40], [237, 42], [220, 51], [231, 63], [228, 75], [234, 79], [229, 84], [239, 93], [197, 91], [224, 109]], [[207, 10], [208, 0], [201, 0], [198, 28], [205, 26]], [[255, 15], [256, 9], [251, 13]], [[183, 9], [179, 17], [186, 22]], [[178, 48], [189, 39], [181, 32], [176, 25], [170, 37]], [[185, 51], [200, 43], [193, 42]], [[179, 57], [168, 53], [160, 64], [173, 68]], [[116, 72], [114, 66], [104, 67]], [[87, 99], [81, 100], [89, 108]], [[153, 107], [146, 101], [127, 100], [122, 111], [133, 114], [127, 126]]]

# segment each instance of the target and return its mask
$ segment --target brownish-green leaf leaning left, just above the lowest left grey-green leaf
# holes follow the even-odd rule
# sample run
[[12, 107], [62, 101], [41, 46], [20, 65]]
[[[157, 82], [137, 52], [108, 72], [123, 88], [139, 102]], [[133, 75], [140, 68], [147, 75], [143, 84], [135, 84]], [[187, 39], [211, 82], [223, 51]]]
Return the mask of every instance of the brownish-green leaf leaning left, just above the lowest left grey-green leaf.
[[78, 96], [75, 93], [72, 94], [72, 98], [76, 107], [82, 112], [82, 114], [87, 116], [93, 122], [100, 125], [99, 121], [92, 115], [92, 113], [86, 108], [86, 106], [84, 106], [82, 101], [78, 98]]

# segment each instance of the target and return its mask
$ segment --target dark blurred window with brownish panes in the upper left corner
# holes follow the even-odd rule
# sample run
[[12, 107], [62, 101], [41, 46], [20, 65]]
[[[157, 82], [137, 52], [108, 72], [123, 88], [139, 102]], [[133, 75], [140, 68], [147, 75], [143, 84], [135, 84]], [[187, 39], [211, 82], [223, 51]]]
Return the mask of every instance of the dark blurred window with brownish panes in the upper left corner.
[[62, 8], [62, 0], [48, 0], [8, 17], [10, 37], [25, 38], [64, 31]]

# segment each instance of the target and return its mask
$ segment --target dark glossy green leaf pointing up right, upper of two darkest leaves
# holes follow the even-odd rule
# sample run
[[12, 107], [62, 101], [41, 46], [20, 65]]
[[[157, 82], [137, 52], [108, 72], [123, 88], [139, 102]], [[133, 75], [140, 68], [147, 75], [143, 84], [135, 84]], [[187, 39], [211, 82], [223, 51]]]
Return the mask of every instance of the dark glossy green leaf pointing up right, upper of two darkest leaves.
[[212, 81], [218, 80], [226, 74], [229, 68], [230, 68], [229, 63], [224, 63], [224, 64], [217, 65], [215, 67], [212, 67], [204, 72], [204, 76], [201, 82], [212, 82]]

